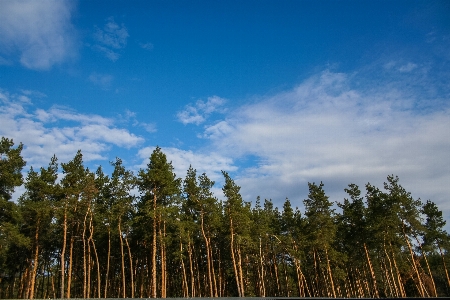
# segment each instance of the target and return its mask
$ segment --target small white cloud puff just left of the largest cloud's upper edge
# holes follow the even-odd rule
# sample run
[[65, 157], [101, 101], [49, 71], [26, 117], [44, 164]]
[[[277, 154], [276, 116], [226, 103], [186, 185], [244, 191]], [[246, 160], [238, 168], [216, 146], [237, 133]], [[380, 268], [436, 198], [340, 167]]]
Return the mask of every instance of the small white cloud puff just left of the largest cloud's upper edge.
[[208, 100], [197, 100], [195, 105], [188, 104], [184, 110], [177, 113], [178, 120], [183, 124], [200, 125], [214, 112], [223, 112], [221, 107], [226, 100], [217, 96], [208, 97]]

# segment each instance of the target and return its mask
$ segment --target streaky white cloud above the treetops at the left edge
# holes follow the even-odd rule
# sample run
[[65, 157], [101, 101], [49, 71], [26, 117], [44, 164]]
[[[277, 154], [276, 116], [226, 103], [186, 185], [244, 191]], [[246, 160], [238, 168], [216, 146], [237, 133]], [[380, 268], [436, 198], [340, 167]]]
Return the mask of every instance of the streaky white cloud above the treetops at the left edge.
[[30, 112], [32, 104], [22, 102], [23, 96], [0, 90], [0, 135], [25, 145], [23, 155], [28, 166], [46, 165], [53, 154], [60, 161], [68, 161], [79, 149], [85, 161], [108, 160], [107, 151], [112, 146], [128, 149], [144, 140], [98, 115], [63, 107]]

